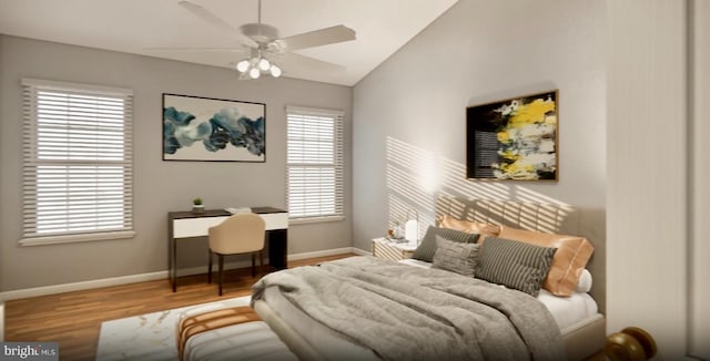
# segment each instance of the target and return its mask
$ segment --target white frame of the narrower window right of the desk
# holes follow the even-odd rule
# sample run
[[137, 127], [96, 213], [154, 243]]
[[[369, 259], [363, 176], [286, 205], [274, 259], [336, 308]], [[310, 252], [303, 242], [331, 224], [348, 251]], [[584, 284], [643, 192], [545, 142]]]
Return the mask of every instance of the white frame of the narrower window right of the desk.
[[[333, 120], [333, 155], [334, 159], [331, 165], [310, 164], [310, 163], [292, 163], [288, 153], [291, 151], [288, 135], [291, 126], [291, 116], [300, 117], [329, 117]], [[344, 153], [344, 121], [345, 114], [339, 110], [327, 110], [303, 106], [286, 106], [286, 206], [288, 208], [288, 221], [291, 224], [311, 224], [323, 221], [339, 221], [345, 219], [345, 153]], [[293, 167], [311, 167], [311, 168], [333, 168], [335, 173], [335, 189], [333, 192], [335, 212], [333, 214], [318, 215], [298, 215], [293, 216], [291, 212], [291, 168]]]

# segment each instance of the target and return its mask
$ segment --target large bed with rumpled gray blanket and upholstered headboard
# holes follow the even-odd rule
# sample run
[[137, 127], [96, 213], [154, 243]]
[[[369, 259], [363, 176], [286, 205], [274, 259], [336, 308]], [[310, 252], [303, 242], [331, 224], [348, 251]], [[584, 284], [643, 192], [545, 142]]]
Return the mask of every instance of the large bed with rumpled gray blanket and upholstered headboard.
[[[436, 216], [448, 217], [449, 225], [439, 224], [433, 233], [476, 223], [585, 237], [599, 233], [596, 214], [540, 203], [439, 197]], [[500, 238], [514, 235], [506, 231]], [[442, 269], [446, 250], [473, 247], [436, 238], [439, 249], [432, 251], [438, 255], [434, 260], [352, 257], [268, 275], [254, 286], [252, 307], [301, 360], [584, 360], [602, 349], [604, 305], [595, 291], [602, 289], [604, 275], [597, 270], [604, 246], [595, 243], [595, 259], [584, 261], [586, 277], [576, 277], [574, 290], [560, 297], [557, 286], [547, 287], [548, 279], [549, 290], [527, 290], [530, 280], [516, 290], [510, 289], [516, 285], [504, 287]], [[493, 259], [495, 247], [510, 246], [500, 238], [481, 238], [483, 246], [476, 248], [481, 255], [476, 259]], [[560, 254], [535, 246], [521, 254], [531, 248], [547, 255], [548, 267]], [[500, 249], [497, 255], [510, 252]], [[579, 248], [575, 252], [581, 254]], [[458, 265], [459, 260], [446, 262]], [[590, 288], [592, 276], [595, 287]]]

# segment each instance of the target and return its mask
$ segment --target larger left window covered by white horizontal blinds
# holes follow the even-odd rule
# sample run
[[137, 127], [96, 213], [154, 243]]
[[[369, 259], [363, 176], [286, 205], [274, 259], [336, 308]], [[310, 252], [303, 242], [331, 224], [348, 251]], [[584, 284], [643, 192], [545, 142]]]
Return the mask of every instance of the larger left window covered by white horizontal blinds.
[[22, 245], [133, 233], [132, 92], [23, 79]]

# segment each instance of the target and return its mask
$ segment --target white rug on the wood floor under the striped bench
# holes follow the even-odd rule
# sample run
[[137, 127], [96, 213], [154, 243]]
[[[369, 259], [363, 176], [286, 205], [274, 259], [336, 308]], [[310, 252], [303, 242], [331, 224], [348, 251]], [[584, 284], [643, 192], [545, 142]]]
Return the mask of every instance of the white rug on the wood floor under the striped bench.
[[251, 296], [176, 308], [101, 323], [97, 360], [178, 360], [175, 328], [183, 312], [248, 306]]

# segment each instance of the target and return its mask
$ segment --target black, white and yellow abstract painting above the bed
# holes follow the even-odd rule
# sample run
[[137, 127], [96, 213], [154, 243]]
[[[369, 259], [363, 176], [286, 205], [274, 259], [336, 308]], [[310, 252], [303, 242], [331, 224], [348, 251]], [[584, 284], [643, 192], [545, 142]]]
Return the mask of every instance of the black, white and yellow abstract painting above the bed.
[[493, 180], [559, 178], [559, 91], [466, 109], [466, 177]]

